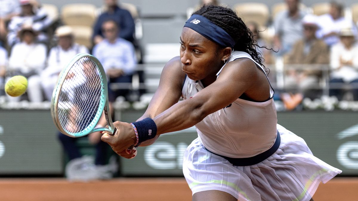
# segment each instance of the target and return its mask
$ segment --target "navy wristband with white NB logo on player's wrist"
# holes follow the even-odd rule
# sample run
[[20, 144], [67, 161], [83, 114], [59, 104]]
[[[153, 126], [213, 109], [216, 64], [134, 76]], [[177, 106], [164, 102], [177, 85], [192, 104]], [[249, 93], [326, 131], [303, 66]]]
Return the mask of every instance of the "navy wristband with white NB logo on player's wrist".
[[145, 118], [141, 121], [132, 122], [137, 128], [138, 144], [148, 139], [153, 139], [156, 135], [156, 124], [151, 118]]

